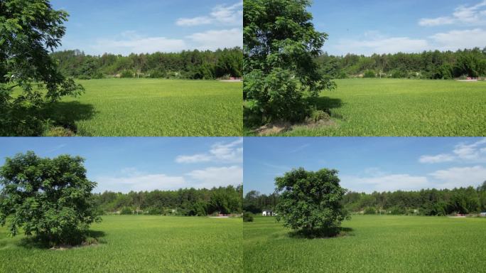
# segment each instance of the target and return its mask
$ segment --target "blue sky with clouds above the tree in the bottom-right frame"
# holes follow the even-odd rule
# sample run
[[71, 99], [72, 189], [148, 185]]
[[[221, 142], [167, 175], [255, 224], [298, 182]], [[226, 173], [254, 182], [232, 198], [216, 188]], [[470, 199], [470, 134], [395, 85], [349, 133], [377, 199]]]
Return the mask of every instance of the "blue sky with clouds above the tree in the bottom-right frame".
[[335, 168], [352, 191], [478, 186], [486, 181], [486, 138], [290, 137], [244, 139], [244, 192], [274, 191], [292, 168]]

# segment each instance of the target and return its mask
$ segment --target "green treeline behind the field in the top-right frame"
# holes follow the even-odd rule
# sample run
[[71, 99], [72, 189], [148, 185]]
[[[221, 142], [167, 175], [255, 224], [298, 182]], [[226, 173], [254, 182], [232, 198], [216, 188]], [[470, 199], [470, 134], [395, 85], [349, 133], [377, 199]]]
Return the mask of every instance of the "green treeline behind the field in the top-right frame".
[[347, 77], [393, 77], [450, 80], [486, 76], [486, 48], [423, 53], [347, 54], [324, 53], [317, 58], [321, 73], [335, 79]]

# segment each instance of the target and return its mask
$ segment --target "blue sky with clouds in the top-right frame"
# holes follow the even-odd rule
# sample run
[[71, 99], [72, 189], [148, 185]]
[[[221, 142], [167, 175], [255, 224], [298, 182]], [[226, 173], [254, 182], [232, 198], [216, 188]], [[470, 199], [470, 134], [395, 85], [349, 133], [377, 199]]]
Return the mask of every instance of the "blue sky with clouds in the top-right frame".
[[486, 46], [486, 0], [315, 0], [310, 11], [333, 55]]

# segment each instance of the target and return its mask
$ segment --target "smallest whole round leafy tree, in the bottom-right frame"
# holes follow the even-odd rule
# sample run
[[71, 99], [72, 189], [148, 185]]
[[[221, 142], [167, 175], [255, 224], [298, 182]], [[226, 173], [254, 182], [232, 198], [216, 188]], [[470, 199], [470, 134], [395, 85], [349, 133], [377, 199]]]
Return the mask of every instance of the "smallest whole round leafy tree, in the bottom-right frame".
[[342, 220], [349, 218], [341, 203], [347, 190], [339, 182], [338, 171], [327, 168], [298, 168], [275, 178], [278, 220], [305, 235], [336, 235]]

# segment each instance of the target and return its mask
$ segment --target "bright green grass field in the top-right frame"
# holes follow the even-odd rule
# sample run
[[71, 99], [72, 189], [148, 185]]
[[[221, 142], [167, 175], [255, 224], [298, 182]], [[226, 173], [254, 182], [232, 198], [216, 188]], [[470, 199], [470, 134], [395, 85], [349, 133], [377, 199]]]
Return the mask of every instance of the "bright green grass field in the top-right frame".
[[[300, 126], [280, 136], [486, 136], [486, 82], [347, 79], [313, 102], [335, 125]], [[248, 132], [246, 130], [246, 132]]]

